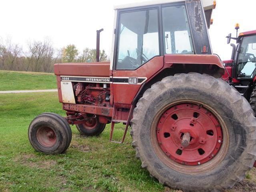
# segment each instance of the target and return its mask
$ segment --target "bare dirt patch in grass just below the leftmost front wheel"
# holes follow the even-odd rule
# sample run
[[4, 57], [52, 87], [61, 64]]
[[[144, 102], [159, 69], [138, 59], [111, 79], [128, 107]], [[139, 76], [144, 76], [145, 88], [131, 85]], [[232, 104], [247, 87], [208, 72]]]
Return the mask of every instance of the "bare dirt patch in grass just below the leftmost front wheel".
[[16, 157], [14, 161], [25, 166], [44, 169], [50, 169], [57, 163], [55, 160], [38, 161], [36, 158], [34, 154], [23, 154], [22, 156]]

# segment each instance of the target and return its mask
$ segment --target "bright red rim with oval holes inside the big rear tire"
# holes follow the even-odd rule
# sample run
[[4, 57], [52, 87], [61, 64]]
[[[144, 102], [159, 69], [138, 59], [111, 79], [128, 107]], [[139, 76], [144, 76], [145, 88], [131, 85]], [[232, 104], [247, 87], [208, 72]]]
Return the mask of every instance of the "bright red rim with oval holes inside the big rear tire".
[[[182, 145], [184, 134], [189, 145]], [[185, 165], [210, 161], [221, 148], [222, 127], [216, 116], [192, 103], [176, 104], [160, 116], [156, 128], [157, 142], [168, 158]]]

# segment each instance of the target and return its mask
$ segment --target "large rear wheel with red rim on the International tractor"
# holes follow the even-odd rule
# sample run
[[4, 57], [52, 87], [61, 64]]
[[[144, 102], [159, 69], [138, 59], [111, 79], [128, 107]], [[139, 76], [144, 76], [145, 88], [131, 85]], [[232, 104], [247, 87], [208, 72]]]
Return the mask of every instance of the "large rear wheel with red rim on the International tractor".
[[255, 160], [256, 119], [226, 82], [197, 73], [168, 76], [134, 109], [132, 145], [150, 175], [172, 188], [231, 188]]

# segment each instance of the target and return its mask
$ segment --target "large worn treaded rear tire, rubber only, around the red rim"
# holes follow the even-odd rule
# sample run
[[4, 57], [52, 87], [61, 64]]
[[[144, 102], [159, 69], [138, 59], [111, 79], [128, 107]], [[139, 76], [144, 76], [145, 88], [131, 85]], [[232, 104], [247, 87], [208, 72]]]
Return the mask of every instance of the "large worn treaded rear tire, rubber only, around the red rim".
[[[228, 130], [226, 155], [218, 166], [209, 166], [207, 172], [191, 174], [170, 168], [156, 154], [150, 139], [151, 125], [158, 121], [156, 114], [172, 102], [188, 99], [208, 104], [220, 114]], [[222, 191], [241, 181], [254, 164], [256, 118], [250, 105], [226, 82], [206, 74], [176, 74], [153, 84], [138, 101], [131, 124], [132, 146], [142, 168], [171, 188], [186, 192]], [[200, 170], [200, 166], [203, 165], [194, 168]]]

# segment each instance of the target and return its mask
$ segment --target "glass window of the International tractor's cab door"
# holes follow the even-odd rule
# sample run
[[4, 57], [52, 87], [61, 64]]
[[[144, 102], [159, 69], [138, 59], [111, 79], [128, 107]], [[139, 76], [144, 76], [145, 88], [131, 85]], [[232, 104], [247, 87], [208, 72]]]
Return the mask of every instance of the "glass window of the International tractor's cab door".
[[116, 69], [136, 69], [159, 55], [158, 10], [120, 14]]

